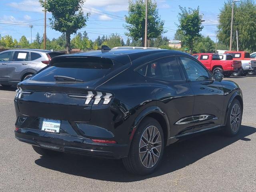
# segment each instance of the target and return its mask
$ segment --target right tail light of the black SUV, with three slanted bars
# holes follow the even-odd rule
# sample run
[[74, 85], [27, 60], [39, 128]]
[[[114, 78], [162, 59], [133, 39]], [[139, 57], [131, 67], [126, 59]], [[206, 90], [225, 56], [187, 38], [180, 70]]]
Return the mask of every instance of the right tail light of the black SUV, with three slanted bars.
[[92, 91], [88, 91], [88, 94], [86, 95], [75, 95], [75, 94], [69, 94], [69, 97], [72, 98], [84, 98], [85, 102], [84, 104], [88, 105], [91, 102], [93, 102], [94, 105], [102, 104], [106, 105], [109, 104], [110, 101], [113, 98], [113, 95], [111, 93], [106, 93], [106, 92], [96, 92], [96, 94], [93, 94]]

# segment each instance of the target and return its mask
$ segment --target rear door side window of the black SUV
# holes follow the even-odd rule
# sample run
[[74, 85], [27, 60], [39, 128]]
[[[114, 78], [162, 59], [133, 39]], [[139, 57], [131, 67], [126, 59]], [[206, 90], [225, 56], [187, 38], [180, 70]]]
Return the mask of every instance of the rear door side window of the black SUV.
[[182, 80], [174, 57], [161, 58], [148, 64], [147, 76], [164, 81]]

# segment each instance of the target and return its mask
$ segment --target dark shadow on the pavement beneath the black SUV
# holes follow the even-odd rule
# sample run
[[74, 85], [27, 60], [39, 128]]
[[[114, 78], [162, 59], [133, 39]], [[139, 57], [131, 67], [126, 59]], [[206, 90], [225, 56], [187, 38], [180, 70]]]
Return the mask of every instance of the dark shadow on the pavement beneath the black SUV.
[[245, 138], [256, 132], [256, 128], [242, 126], [235, 137], [207, 133], [167, 147], [160, 167], [148, 176], [135, 176], [128, 173], [122, 165], [122, 160], [95, 159], [86, 156], [63, 154], [58, 157], [41, 157], [35, 160], [39, 166], [59, 172], [114, 182], [133, 182], [167, 174], [212, 154], [238, 140], [250, 142]]

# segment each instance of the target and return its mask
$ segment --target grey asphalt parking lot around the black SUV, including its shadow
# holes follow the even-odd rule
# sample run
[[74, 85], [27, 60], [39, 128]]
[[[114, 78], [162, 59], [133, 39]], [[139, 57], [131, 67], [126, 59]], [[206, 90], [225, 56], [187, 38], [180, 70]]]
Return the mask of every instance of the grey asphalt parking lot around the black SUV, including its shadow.
[[0, 86], [0, 191], [256, 191], [256, 76], [224, 78], [240, 85], [240, 133], [208, 133], [166, 148], [160, 168], [134, 176], [121, 160], [63, 154], [40, 157], [14, 138], [15, 87]]

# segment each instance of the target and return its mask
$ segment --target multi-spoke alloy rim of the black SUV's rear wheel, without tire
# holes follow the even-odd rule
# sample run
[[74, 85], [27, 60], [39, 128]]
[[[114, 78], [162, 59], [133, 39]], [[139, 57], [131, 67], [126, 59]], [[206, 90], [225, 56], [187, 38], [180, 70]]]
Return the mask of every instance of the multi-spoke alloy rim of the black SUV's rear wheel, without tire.
[[140, 138], [140, 161], [146, 168], [153, 167], [160, 157], [162, 150], [161, 134], [155, 126], [148, 126]]

